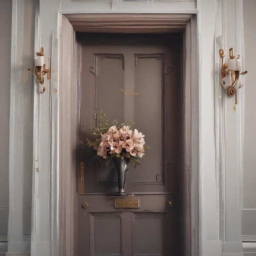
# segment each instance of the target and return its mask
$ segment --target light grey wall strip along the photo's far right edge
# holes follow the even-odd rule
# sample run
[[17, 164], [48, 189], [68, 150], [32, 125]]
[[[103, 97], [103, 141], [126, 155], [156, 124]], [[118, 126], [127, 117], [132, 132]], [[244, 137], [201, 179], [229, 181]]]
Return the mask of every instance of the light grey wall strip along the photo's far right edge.
[[[245, 35], [245, 140], [242, 234], [256, 241], [256, 1], [243, 1]], [[248, 238], [247, 238], [248, 239]]]

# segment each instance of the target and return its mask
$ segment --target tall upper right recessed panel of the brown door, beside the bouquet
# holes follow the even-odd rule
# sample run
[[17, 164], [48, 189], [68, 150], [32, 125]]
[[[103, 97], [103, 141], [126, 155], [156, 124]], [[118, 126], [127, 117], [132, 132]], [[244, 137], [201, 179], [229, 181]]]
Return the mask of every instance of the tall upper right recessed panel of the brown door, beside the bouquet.
[[[156, 175], [162, 173], [162, 138], [163, 130], [161, 97], [164, 54], [135, 54], [134, 120], [137, 130], [145, 134], [145, 141], [151, 146], [136, 168], [136, 173], [127, 175], [130, 184], [162, 184]], [[159, 86], [160, 85], [160, 86]], [[145, 175], [146, 172], [146, 175]]]

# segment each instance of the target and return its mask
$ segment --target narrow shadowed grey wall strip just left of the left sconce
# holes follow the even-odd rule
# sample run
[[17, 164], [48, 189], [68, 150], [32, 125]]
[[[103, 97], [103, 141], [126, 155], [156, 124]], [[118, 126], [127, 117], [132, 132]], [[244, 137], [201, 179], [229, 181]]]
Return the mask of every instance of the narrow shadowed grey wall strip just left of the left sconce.
[[33, 168], [33, 92], [34, 76], [27, 72], [34, 65], [35, 0], [24, 1], [23, 74], [23, 235], [31, 234], [32, 168]]

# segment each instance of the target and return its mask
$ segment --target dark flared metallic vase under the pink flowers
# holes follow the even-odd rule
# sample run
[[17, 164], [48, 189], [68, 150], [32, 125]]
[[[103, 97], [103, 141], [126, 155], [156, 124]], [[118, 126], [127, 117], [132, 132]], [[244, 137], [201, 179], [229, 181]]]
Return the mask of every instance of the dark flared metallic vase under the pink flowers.
[[114, 195], [121, 195], [121, 196], [127, 196], [128, 194], [124, 192], [124, 182], [125, 182], [125, 176], [127, 169], [127, 164], [129, 163], [129, 158], [124, 158], [123, 160], [121, 158], [114, 157], [114, 166], [117, 172], [117, 184], [118, 184], [118, 192]]

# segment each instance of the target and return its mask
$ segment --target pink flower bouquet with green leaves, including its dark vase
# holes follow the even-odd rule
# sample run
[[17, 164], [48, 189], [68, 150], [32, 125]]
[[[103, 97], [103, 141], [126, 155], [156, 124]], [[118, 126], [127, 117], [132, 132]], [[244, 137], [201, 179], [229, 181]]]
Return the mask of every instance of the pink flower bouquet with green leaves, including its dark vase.
[[92, 133], [96, 135], [94, 141], [89, 141], [88, 146], [97, 150], [96, 158], [108, 166], [113, 160], [117, 171], [119, 194], [127, 195], [124, 192], [124, 181], [127, 164], [131, 160], [132, 166], [136, 168], [143, 157], [145, 150], [150, 147], [145, 144], [144, 135], [137, 129], [132, 129], [132, 124], [119, 125], [117, 120], [108, 125], [106, 114], [99, 116], [99, 126], [91, 126]]

